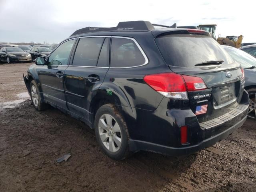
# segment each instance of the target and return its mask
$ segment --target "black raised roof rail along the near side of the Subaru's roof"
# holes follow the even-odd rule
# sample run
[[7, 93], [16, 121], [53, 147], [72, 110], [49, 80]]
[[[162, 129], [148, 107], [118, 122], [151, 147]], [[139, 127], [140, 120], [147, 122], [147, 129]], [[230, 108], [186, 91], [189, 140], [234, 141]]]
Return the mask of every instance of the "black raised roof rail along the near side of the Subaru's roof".
[[70, 36], [100, 31], [149, 31], [152, 29], [154, 29], [154, 26], [149, 21], [125, 21], [119, 22], [116, 27], [86, 27], [78, 29]]

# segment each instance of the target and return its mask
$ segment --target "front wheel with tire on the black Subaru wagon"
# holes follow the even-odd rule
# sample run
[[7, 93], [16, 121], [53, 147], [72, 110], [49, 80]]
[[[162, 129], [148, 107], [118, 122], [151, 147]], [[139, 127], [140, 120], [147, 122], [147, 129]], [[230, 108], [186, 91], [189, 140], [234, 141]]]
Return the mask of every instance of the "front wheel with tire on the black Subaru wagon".
[[42, 110], [46, 109], [48, 105], [46, 103], [42, 102], [35, 80], [32, 80], [30, 82], [29, 91], [30, 91], [31, 102], [32, 102], [34, 108], [38, 111], [42, 111]]

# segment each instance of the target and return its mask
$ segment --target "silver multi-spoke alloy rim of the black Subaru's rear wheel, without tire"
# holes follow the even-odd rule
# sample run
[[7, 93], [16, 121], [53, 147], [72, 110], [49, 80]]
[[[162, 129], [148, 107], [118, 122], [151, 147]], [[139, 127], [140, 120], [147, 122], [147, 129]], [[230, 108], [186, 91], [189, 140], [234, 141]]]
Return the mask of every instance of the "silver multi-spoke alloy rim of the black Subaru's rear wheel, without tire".
[[118, 122], [110, 114], [100, 117], [98, 130], [100, 139], [110, 152], [116, 152], [122, 144], [122, 135]]

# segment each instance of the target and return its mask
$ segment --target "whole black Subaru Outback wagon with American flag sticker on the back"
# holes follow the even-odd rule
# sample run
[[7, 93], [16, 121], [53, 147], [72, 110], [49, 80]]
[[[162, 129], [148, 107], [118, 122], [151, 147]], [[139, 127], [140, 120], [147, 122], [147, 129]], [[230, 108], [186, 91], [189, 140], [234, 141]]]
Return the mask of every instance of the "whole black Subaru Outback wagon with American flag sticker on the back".
[[35, 62], [24, 77], [34, 107], [84, 121], [116, 160], [138, 150], [190, 154], [246, 120], [244, 71], [206, 31], [87, 27]]

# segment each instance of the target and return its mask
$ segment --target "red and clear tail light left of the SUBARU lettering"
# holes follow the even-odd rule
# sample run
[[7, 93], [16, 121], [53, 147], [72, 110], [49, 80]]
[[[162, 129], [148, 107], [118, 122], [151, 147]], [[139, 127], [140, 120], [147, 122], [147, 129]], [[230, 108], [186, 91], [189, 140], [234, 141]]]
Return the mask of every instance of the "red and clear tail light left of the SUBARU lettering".
[[144, 81], [165, 97], [188, 100], [187, 91], [206, 89], [200, 77], [180, 75], [176, 73], [160, 73], [144, 76]]

